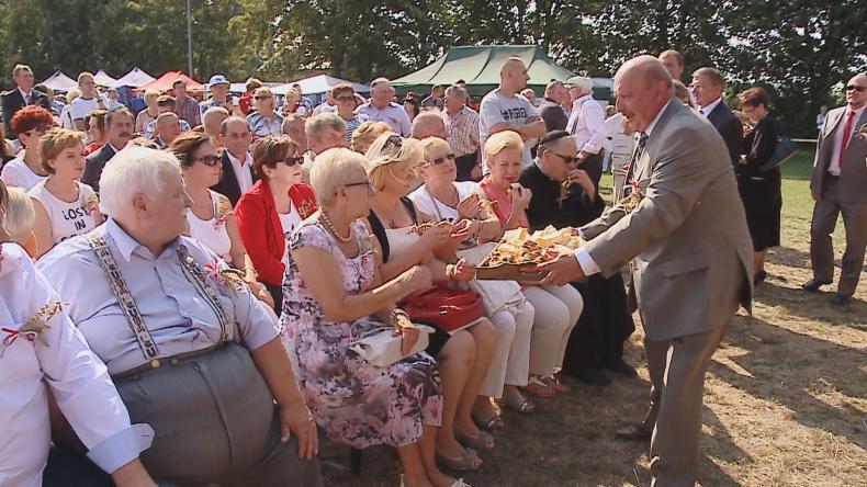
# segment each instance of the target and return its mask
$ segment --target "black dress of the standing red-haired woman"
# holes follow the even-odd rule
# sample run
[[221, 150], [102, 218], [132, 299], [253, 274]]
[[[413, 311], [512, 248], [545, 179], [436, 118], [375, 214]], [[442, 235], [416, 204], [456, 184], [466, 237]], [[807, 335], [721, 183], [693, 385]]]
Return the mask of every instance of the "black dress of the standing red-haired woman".
[[777, 147], [781, 128], [774, 115], [767, 114], [746, 135], [746, 165], [737, 165], [737, 192], [746, 212], [746, 225], [756, 252], [779, 246], [780, 211], [782, 209], [779, 168], [761, 170]]

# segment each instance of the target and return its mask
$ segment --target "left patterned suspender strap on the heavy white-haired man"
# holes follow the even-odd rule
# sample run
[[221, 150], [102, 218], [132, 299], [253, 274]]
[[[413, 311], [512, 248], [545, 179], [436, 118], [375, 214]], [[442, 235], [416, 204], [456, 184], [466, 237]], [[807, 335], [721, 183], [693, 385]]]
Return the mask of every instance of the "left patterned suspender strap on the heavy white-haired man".
[[90, 231], [87, 234], [87, 240], [93, 253], [97, 254], [97, 260], [100, 263], [100, 268], [102, 268], [102, 272], [109, 278], [109, 285], [111, 286], [112, 293], [114, 293], [114, 297], [117, 299], [121, 312], [123, 312], [126, 317], [127, 325], [130, 325], [133, 335], [135, 335], [135, 339], [138, 341], [138, 348], [142, 350], [145, 359], [156, 359], [159, 355], [157, 344], [154, 342], [154, 338], [150, 336], [147, 326], [145, 326], [145, 320], [142, 317], [142, 313], [138, 310], [138, 305], [135, 303], [135, 299], [133, 299], [132, 294], [130, 294], [130, 287], [123, 280], [121, 271], [117, 269], [117, 263], [114, 261], [109, 247], [105, 245], [105, 239], [97, 235], [97, 233]]

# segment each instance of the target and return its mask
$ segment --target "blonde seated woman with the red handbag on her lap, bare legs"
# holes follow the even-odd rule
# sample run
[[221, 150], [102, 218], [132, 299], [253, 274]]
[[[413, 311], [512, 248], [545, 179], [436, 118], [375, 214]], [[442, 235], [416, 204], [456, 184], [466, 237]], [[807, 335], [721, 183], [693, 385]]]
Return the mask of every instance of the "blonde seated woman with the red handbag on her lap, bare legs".
[[[419, 225], [431, 222], [406, 197], [424, 157], [418, 140], [403, 139], [392, 132], [382, 134], [368, 149], [368, 177], [373, 185], [368, 223], [382, 256], [380, 272], [389, 280], [421, 264], [430, 269], [435, 281], [469, 281], [474, 270], [453, 262], [457, 245], [463, 239], [451, 237], [458, 229], [454, 225], [436, 225], [423, 236], [415, 231]], [[494, 438], [473, 422], [472, 410], [491, 365], [495, 341], [496, 330], [487, 318], [451, 335], [438, 330], [430, 338], [428, 352], [437, 358], [443, 390], [437, 455], [449, 468], [477, 469], [482, 460], [476, 451], [494, 448]]]

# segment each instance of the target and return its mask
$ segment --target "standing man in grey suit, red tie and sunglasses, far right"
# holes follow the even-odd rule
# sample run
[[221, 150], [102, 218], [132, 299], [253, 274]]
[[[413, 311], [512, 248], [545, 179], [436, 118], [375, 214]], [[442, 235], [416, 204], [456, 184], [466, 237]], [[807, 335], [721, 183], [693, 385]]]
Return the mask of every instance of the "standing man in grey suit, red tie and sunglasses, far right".
[[846, 83], [846, 105], [825, 115], [815, 149], [810, 191], [813, 220], [810, 225], [810, 261], [813, 279], [803, 284], [818, 291], [834, 278], [834, 247], [831, 234], [843, 214], [846, 250], [831, 302], [844, 305], [852, 299], [864, 268], [867, 247], [867, 76], [856, 75]]

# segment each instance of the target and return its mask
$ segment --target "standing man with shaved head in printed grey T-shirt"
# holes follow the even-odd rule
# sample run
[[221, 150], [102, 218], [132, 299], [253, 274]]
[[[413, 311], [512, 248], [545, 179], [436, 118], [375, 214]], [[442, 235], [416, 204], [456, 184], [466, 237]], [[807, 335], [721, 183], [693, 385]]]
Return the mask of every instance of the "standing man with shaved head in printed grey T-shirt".
[[[491, 91], [482, 99], [478, 106], [478, 144], [485, 146], [485, 140], [491, 134], [503, 131], [515, 131], [523, 139], [523, 167], [532, 163], [530, 147], [534, 145], [538, 137], [545, 133], [544, 121], [539, 116], [527, 98], [519, 94], [527, 88], [527, 67], [519, 57], [510, 57], [503, 63], [499, 68], [499, 87]], [[484, 152], [484, 151], [483, 151]], [[487, 171], [487, 165], [482, 160], [483, 172]]]

